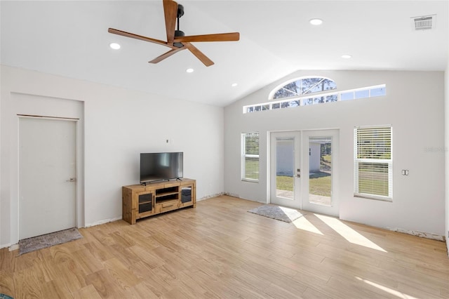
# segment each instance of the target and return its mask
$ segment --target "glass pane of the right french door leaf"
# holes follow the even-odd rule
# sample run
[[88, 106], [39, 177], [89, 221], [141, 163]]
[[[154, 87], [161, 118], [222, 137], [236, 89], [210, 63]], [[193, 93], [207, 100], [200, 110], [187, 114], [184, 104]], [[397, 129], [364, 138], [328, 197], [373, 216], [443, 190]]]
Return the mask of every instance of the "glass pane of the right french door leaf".
[[309, 137], [309, 203], [332, 205], [332, 137]]

